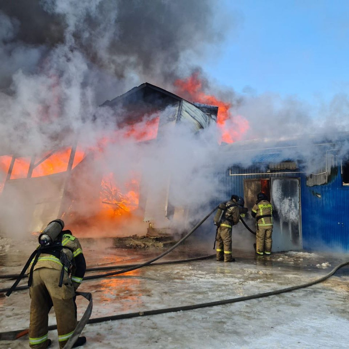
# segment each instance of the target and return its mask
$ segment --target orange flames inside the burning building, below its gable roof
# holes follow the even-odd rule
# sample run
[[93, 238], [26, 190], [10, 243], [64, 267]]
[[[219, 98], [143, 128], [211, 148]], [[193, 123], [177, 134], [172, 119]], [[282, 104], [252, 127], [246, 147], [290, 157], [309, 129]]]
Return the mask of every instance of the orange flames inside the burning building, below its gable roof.
[[[154, 113], [151, 116], [144, 116], [138, 122], [125, 124], [124, 127], [117, 131], [109, 133], [109, 136], [101, 138], [95, 147], [91, 147], [86, 151], [78, 145], [76, 148], [65, 147], [55, 151], [46, 151], [36, 157], [1, 156], [0, 193], [5, 186], [6, 180], [65, 173], [66, 171], [74, 170], [88, 154], [93, 154], [93, 158], [100, 158], [104, 156], [105, 151], [108, 151], [108, 147], [120, 147], [125, 141], [135, 143], [155, 139], [157, 137], [158, 125], [159, 115]], [[94, 165], [90, 164], [89, 166]], [[120, 216], [129, 216], [139, 205], [139, 175], [130, 173], [125, 183], [117, 183], [114, 173], [110, 173], [107, 165], [105, 167], [99, 188], [98, 186], [93, 188], [92, 186], [82, 186], [84, 190], [99, 191], [99, 195], [94, 196], [99, 198], [99, 202], [93, 204], [95, 205], [94, 219], [99, 222], [115, 221]], [[79, 171], [81, 170], [77, 169], [77, 178], [80, 177]], [[92, 174], [92, 176], [94, 175]], [[94, 180], [92, 182], [95, 183]], [[79, 215], [79, 210], [73, 211], [76, 206], [74, 199], [68, 206], [70, 207], [65, 209], [64, 215], [69, 216], [74, 221], [72, 215]], [[80, 217], [75, 218], [77, 220], [80, 219]]]

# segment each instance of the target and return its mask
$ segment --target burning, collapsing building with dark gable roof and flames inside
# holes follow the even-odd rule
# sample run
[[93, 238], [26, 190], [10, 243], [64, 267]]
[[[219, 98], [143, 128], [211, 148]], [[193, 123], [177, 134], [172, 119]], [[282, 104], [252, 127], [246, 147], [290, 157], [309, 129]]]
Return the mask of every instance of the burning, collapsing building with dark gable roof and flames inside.
[[[171, 200], [171, 177], [175, 174], [165, 169], [159, 185], [158, 174], [152, 173], [149, 162], [147, 169], [144, 164], [143, 168], [131, 166], [120, 177], [125, 161], [122, 156], [106, 155], [107, 149], [118, 148], [121, 140], [127, 140], [127, 147], [136, 147], [132, 154], [141, 153], [145, 144], [161, 147], [168, 130], [179, 125], [195, 137], [215, 124], [218, 107], [190, 103], [143, 83], [105, 101], [98, 109], [94, 122], [103, 123], [106, 115], [109, 122], [95, 147], [81, 146], [84, 135], [76, 134], [70, 136], [70, 144], [61, 142], [43, 154], [2, 154], [1, 233], [12, 230], [14, 221], [22, 232], [39, 231], [58, 217], [80, 235], [86, 231], [117, 235], [118, 227], [135, 217], [140, 234], [149, 226], [164, 232], [185, 228], [188, 208]], [[144, 171], [150, 175], [144, 176]]]

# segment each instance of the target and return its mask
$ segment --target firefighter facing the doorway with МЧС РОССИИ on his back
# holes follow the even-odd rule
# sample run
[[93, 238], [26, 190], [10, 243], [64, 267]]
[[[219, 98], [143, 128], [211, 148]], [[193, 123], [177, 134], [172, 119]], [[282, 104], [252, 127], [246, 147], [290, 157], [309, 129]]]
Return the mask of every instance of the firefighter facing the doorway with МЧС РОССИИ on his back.
[[256, 219], [255, 250], [259, 255], [268, 255], [272, 253], [273, 206], [264, 193], [257, 194], [251, 215]]

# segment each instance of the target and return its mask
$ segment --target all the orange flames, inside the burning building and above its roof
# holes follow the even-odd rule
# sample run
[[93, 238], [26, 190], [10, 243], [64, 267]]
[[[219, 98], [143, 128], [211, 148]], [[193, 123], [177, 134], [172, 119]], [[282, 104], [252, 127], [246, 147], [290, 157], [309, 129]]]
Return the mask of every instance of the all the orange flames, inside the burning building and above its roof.
[[[175, 86], [178, 90], [178, 95], [189, 96], [188, 99], [194, 102], [218, 106], [217, 125], [221, 130], [221, 142], [231, 143], [242, 138], [244, 132], [249, 127], [248, 121], [241, 116], [232, 116], [230, 112], [232, 104], [230, 102], [224, 102], [215, 96], [207, 95], [204, 92], [198, 73], [187, 79], [177, 80]], [[94, 148], [83, 150], [79, 145], [76, 148], [65, 147], [55, 151], [47, 151], [35, 158], [13, 157], [11, 155], [1, 156], [0, 192], [8, 179], [32, 178], [64, 173], [74, 170], [90, 153], [103, 156], [104, 151], [108, 147], [118, 147], [125, 141], [144, 142], [155, 139], [158, 133], [158, 126], [159, 114], [155, 112], [151, 115], [144, 115], [142, 119], [136, 122], [126, 122], [122, 128], [100, 139]], [[80, 169], [76, 170], [78, 179], [79, 171]], [[99, 190], [99, 195], [94, 196], [99, 201], [96, 205], [98, 211], [95, 211], [93, 214], [94, 218], [99, 222], [102, 220], [115, 221], [119, 220], [121, 216], [130, 216], [139, 206], [139, 174], [131, 173], [125, 181], [126, 183], [117, 183], [116, 177], [106, 166], [99, 188], [90, 188], [92, 191]], [[70, 207], [75, 205], [73, 201], [70, 202]], [[71, 212], [73, 215], [74, 212], [79, 214], [79, 209]], [[69, 209], [64, 214], [70, 215]]]

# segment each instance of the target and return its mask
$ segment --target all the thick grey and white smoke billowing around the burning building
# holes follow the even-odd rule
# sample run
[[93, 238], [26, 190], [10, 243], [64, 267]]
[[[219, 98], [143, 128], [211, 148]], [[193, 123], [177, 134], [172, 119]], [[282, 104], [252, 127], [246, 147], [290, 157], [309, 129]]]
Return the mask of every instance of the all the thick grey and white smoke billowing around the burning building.
[[[98, 105], [143, 82], [176, 93], [176, 80], [192, 72], [201, 74], [204, 94], [215, 94], [231, 105], [227, 126], [235, 140], [262, 138], [265, 144], [258, 147], [263, 148], [272, 147], [270, 140], [275, 138], [297, 136], [303, 155], [314, 158], [308, 147], [311, 139], [302, 135], [348, 129], [348, 118], [343, 118], [348, 112], [347, 96], [336, 96], [329, 106], [314, 111], [293, 97], [237, 96], [232, 89], [209, 82], [200, 64], [217, 53], [234, 24], [234, 16], [224, 13], [217, 1], [3, 0], [0, 4], [1, 155], [41, 154], [77, 140], [84, 150], [98, 149], [101, 139], [113, 137], [115, 113], [122, 113]], [[191, 94], [180, 96], [205, 103]], [[214, 104], [209, 99], [206, 103]], [[314, 115], [321, 118], [315, 120]], [[100, 166], [97, 161], [80, 179], [80, 186], [85, 185], [79, 193], [84, 202], [80, 213], [86, 218], [94, 214], [84, 195], [89, 181], [99, 178], [107, 166], [120, 183], [132, 172], [142, 172], [144, 180], [156, 178], [156, 185], [148, 188], [154, 196], [167, 192], [173, 205], [198, 207], [193, 220], [202, 218], [200, 205], [221, 198], [212, 167], [229, 165], [227, 157], [216, 156], [215, 137], [212, 127], [197, 137], [178, 127], [176, 132], [165, 130], [161, 143], [125, 138], [109, 144], [103, 148]], [[230, 154], [234, 158], [229, 161], [245, 164], [253, 156]], [[9, 218], [6, 229], [20, 234], [25, 223], [15, 219], [18, 202], [30, 198], [24, 189], [15, 196], [1, 209]], [[20, 215], [26, 214], [22, 207]], [[140, 227], [127, 224], [124, 231], [131, 235]]]

